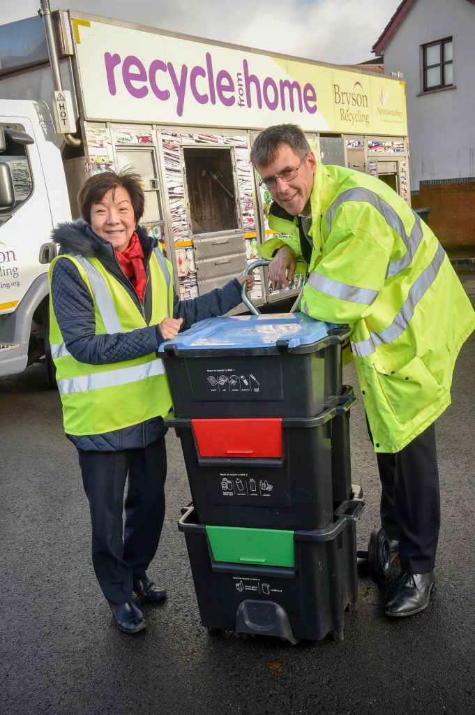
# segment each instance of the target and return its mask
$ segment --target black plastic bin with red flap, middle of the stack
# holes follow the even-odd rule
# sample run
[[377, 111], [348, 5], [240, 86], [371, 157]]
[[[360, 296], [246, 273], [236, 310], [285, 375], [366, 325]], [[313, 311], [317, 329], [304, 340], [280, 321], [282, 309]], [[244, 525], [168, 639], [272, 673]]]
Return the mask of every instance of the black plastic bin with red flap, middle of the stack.
[[352, 388], [314, 418], [189, 420], [169, 424], [181, 439], [201, 523], [316, 529], [351, 496]]

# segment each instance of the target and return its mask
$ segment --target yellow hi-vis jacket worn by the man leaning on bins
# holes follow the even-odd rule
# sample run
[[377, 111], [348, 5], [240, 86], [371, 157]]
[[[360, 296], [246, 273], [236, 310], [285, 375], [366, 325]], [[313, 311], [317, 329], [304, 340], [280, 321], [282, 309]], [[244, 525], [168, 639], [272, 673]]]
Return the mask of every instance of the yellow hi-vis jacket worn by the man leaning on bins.
[[[269, 226], [301, 255], [296, 217]], [[430, 228], [384, 182], [317, 164], [313, 248], [300, 310], [352, 327], [351, 350], [376, 452], [398, 452], [450, 404], [456, 356], [475, 312]]]

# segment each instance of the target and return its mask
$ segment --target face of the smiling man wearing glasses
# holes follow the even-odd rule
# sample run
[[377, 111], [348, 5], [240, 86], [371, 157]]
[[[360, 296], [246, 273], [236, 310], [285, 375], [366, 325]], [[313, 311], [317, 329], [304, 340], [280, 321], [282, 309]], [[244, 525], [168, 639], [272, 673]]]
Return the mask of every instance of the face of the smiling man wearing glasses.
[[[300, 162], [299, 154], [296, 154], [289, 144], [283, 143], [279, 147], [279, 153], [274, 162], [266, 166], [256, 166], [256, 169], [261, 174], [262, 181], [265, 182], [271, 177], [278, 177], [286, 169], [298, 167]], [[309, 152], [294, 179], [286, 182], [279, 177], [274, 189], [269, 189], [274, 201], [291, 216], [303, 213], [305, 208], [306, 212], [310, 211], [310, 206], [307, 204], [309, 204], [311, 189], [314, 185], [315, 167], [314, 153]]]

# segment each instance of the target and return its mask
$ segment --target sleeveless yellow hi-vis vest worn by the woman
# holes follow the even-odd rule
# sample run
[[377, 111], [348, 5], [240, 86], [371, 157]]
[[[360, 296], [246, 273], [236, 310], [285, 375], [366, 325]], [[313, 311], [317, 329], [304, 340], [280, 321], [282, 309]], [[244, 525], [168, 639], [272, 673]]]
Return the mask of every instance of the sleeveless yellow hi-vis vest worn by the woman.
[[[125, 287], [106, 271], [94, 257], [61, 255], [51, 262], [51, 273], [58, 260], [71, 260], [89, 288], [94, 302], [96, 335], [129, 332], [146, 327]], [[152, 312], [150, 325], [156, 325], [173, 312], [171, 264], [159, 248], [154, 249], [149, 261]], [[64, 430], [70, 435], [98, 435], [136, 425], [145, 420], [164, 417], [171, 408], [169, 383], [162, 361], [156, 352], [143, 358], [120, 363], [90, 365], [73, 358], [64, 345], [51, 301], [51, 355], [56, 365]]]

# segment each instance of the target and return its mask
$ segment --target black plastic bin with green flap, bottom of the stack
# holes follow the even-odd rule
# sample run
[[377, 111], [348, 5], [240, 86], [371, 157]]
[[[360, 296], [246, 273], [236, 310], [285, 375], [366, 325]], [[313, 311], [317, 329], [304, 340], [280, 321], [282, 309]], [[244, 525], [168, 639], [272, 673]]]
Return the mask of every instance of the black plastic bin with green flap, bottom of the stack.
[[[329, 633], [341, 641], [344, 613], [357, 608], [356, 521], [363, 509], [364, 501], [352, 499], [341, 503], [336, 521], [326, 528], [275, 531], [205, 526], [188, 508], [179, 530], [186, 538], [201, 623], [293, 644]], [[214, 558], [213, 550], [226, 539], [234, 546], [231, 559], [242, 548], [244, 563], [224, 561], [222, 553], [221, 560]], [[274, 559], [269, 551], [276, 543], [282, 546]]]

